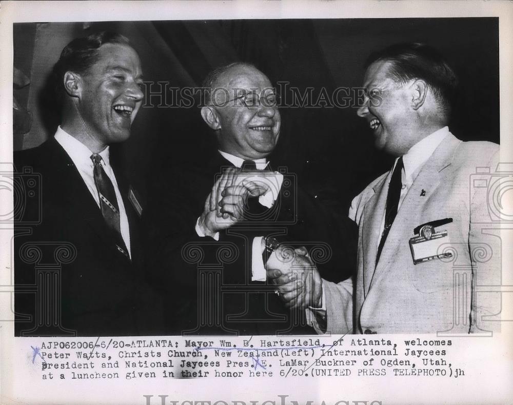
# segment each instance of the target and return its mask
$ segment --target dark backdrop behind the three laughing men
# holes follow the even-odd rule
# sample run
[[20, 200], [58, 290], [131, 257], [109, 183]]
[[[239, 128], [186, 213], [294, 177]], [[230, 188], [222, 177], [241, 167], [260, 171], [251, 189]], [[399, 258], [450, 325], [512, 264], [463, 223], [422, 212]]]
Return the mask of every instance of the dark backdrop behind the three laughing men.
[[[176, 93], [170, 89], [199, 87], [209, 70], [235, 60], [255, 64], [271, 83], [287, 82], [300, 94], [311, 88], [315, 102], [323, 91], [331, 96], [336, 88], [361, 86], [372, 51], [398, 42], [427, 43], [460, 77], [450, 130], [463, 140], [499, 142], [498, 18], [273, 19], [15, 24], [14, 66], [31, 83], [14, 96], [33, 119], [30, 132], [14, 134], [14, 149], [53, 135], [59, 117], [45, 89], [50, 69], [71, 39], [103, 30], [129, 37], [145, 80], [152, 82], [130, 139], [112, 148], [143, 200], [152, 173], [165, 171], [171, 161], [187, 170], [215, 150], [199, 107], [170, 106]], [[354, 195], [388, 170], [391, 159], [373, 148], [356, 107], [320, 105], [325, 107], [280, 110], [282, 131], [272, 161], [296, 173], [312, 195], [346, 210]]]

